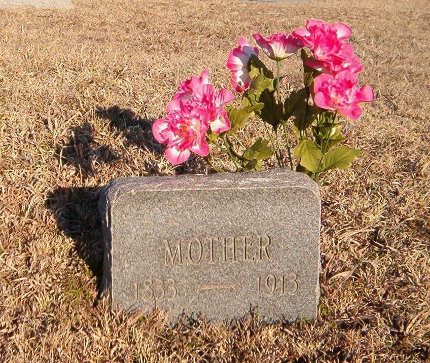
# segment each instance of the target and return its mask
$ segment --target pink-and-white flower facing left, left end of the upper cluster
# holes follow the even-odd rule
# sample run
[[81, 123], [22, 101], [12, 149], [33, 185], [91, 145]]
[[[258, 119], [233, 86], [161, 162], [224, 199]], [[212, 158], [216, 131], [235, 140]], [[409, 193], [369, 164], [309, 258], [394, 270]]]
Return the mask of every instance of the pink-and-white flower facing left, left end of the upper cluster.
[[242, 93], [250, 84], [249, 64], [253, 55], [258, 56], [258, 49], [251, 46], [245, 38], [240, 37], [238, 46], [233, 48], [227, 60], [227, 68], [231, 71], [231, 85], [235, 91]]

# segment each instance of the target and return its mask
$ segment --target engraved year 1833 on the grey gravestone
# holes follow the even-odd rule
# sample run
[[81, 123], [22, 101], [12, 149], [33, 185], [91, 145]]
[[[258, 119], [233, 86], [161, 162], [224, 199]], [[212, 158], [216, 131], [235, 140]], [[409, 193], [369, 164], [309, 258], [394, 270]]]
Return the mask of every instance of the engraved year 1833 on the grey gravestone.
[[176, 282], [172, 278], [147, 278], [142, 282], [134, 282], [134, 298], [138, 301], [157, 303], [176, 297]]

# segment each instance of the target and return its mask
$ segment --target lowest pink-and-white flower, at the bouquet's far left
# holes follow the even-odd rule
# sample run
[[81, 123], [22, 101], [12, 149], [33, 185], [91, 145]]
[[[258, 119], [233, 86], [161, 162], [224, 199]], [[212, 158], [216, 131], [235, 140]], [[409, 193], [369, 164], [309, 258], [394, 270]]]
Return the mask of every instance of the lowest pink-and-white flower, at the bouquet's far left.
[[209, 146], [205, 139], [208, 129], [207, 115], [202, 110], [190, 107], [190, 103], [174, 99], [169, 103], [165, 119], [158, 119], [152, 132], [158, 142], [167, 143], [166, 156], [172, 164], [182, 164], [191, 151], [207, 156]]

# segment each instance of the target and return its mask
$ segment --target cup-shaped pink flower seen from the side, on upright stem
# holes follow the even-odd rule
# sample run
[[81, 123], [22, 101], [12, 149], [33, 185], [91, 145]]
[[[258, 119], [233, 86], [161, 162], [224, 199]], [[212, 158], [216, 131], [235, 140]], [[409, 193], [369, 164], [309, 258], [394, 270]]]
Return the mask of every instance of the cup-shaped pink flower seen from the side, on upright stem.
[[255, 33], [253, 37], [263, 52], [276, 61], [292, 56], [298, 49], [303, 47], [303, 43], [298, 38], [293, 37], [292, 34], [287, 36], [284, 33], [278, 33], [265, 38]]

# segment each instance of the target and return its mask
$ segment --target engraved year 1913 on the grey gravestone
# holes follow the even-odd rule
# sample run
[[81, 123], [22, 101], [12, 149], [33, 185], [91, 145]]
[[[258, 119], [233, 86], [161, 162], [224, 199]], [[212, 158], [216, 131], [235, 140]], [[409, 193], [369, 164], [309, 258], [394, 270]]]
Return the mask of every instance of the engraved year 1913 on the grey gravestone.
[[270, 297], [273, 295], [294, 295], [299, 289], [297, 274], [292, 272], [276, 276], [269, 274], [258, 277], [258, 293], [261, 296]]

